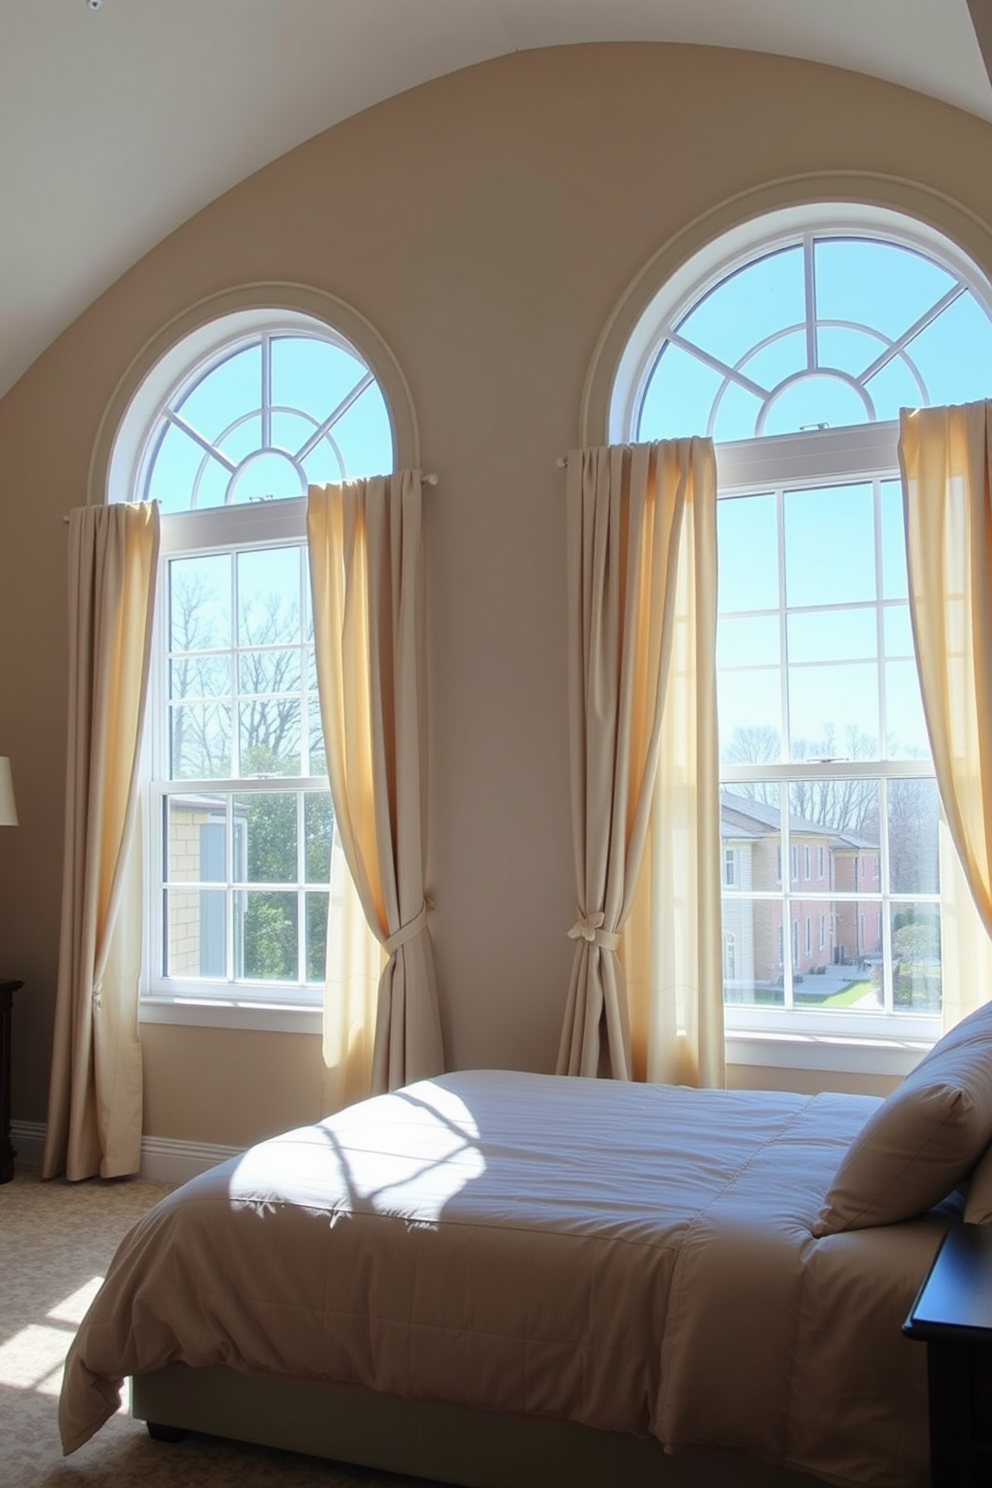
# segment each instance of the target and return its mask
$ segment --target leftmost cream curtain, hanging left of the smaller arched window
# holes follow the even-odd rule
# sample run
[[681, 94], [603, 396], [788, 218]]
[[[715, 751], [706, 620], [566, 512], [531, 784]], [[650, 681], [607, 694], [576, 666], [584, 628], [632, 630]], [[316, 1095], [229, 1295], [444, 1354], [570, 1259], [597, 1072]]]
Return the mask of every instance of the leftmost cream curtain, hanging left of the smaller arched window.
[[122, 1177], [141, 1162], [135, 801], [158, 549], [153, 503], [70, 515], [65, 856], [46, 1178]]

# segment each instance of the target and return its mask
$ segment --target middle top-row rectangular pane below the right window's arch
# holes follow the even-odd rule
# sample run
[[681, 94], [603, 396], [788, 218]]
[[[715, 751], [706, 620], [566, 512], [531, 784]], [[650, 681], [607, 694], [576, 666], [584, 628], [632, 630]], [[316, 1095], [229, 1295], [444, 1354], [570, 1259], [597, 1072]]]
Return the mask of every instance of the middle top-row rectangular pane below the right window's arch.
[[787, 491], [784, 519], [788, 604], [875, 600], [870, 485]]

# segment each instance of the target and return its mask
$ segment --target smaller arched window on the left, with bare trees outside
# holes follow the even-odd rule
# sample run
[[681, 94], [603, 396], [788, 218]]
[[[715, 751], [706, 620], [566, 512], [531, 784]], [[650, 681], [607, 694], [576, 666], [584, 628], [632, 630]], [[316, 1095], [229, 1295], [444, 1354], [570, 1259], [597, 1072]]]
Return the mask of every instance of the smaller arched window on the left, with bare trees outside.
[[109, 458], [110, 497], [162, 512], [143, 1016], [318, 1004], [333, 809], [305, 497], [393, 470], [393, 412], [364, 350], [299, 310], [204, 318], [149, 362]]

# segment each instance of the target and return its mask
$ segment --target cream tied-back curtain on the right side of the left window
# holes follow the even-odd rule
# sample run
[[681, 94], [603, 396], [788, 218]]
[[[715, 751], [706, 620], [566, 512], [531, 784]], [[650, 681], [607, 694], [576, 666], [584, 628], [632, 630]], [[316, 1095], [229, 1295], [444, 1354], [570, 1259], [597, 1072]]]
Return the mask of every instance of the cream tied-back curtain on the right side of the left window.
[[424, 891], [421, 504], [416, 470], [308, 496], [317, 684], [350, 870], [333, 870], [327, 926], [332, 1106], [439, 1074], [445, 1062]]

